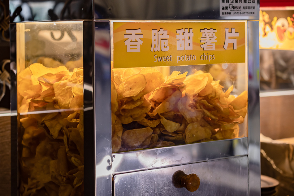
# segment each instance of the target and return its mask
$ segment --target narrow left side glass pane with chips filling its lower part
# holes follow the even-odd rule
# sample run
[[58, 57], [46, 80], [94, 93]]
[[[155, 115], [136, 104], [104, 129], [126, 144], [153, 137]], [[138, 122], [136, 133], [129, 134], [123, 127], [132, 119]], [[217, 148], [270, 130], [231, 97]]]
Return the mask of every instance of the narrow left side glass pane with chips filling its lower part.
[[20, 195], [83, 195], [83, 22], [17, 23]]

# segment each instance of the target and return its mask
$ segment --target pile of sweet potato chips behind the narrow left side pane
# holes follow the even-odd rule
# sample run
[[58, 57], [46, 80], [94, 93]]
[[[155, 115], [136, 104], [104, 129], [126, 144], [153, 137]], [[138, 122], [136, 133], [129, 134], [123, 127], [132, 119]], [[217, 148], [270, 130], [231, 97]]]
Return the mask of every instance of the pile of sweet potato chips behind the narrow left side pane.
[[84, 195], [83, 65], [18, 73], [21, 196]]

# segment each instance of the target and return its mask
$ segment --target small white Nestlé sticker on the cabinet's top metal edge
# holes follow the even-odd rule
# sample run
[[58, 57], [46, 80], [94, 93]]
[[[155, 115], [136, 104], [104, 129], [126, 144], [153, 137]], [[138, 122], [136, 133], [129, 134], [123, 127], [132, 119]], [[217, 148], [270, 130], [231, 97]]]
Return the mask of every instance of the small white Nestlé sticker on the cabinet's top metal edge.
[[220, 0], [220, 16], [257, 16], [257, 0]]

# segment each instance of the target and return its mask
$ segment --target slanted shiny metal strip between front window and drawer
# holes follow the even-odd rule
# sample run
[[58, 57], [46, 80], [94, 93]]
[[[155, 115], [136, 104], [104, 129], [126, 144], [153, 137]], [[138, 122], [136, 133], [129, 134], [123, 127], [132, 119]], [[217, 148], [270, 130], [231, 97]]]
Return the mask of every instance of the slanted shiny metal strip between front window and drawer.
[[112, 174], [248, 155], [248, 138], [112, 154]]

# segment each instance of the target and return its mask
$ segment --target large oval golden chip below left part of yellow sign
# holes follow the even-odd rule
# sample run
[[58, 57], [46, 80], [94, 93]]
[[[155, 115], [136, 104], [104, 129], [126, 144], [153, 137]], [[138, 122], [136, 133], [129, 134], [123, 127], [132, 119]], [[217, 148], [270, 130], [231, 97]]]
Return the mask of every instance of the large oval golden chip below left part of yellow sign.
[[124, 87], [123, 97], [136, 96], [145, 88], [146, 84], [146, 78], [142, 74], [129, 76], [122, 84]]

